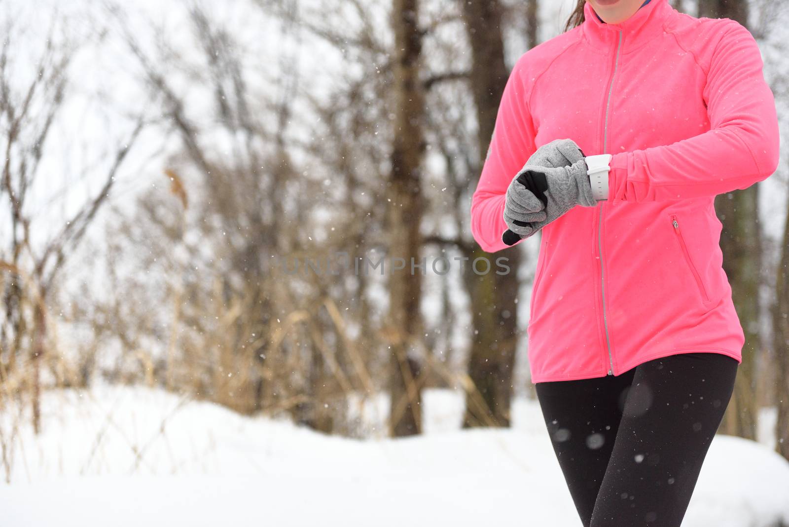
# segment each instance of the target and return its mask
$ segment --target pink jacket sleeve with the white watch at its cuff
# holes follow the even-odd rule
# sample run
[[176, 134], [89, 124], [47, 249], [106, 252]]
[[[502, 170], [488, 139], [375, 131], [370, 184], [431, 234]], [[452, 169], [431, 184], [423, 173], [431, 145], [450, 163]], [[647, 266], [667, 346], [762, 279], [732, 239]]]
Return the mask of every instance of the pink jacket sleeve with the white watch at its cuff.
[[776, 171], [778, 117], [759, 47], [741, 24], [729, 21], [727, 26], [712, 51], [703, 92], [709, 131], [613, 155], [609, 200], [716, 196], [746, 189]]

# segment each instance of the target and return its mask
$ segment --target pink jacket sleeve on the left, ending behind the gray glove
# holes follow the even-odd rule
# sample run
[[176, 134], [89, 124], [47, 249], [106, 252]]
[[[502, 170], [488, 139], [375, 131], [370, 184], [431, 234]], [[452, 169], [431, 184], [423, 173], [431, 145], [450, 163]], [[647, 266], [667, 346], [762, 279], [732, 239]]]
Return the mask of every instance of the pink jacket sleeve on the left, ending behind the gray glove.
[[488, 155], [471, 198], [471, 233], [486, 252], [507, 249], [501, 241], [501, 235], [507, 230], [503, 218], [504, 196], [512, 178], [537, 150], [524, 65], [525, 54], [515, 63], [507, 79]]

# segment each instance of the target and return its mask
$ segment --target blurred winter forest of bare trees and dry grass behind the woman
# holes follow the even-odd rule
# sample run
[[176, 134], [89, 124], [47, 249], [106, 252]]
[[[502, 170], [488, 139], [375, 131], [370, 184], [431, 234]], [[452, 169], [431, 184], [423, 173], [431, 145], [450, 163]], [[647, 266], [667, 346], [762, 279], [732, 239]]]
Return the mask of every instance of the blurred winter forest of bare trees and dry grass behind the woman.
[[[448, 387], [464, 427], [509, 426], [531, 390], [539, 236], [496, 253], [508, 275], [429, 262], [484, 256], [469, 204], [499, 97], [572, 4], [3, 2], [0, 411], [20, 402], [38, 430], [44, 391], [143, 384], [366, 437], [360, 408], [383, 394], [399, 436], [421, 433], [421, 393]], [[782, 133], [785, 4], [672, 2], [750, 28]], [[746, 331], [720, 431], [753, 439], [771, 409], [789, 459], [782, 147], [771, 178], [716, 198]], [[338, 254], [426, 258], [427, 272], [271, 264]]]

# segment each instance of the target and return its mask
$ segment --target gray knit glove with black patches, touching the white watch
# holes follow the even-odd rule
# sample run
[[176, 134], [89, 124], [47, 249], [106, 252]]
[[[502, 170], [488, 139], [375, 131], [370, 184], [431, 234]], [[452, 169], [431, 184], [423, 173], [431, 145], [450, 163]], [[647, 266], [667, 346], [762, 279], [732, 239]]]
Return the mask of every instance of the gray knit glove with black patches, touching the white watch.
[[554, 140], [537, 149], [507, 189], [504, 222], [509, 230], [503, 242], [514, 245], [577, 204], [596, 206], [586, 170], [584, 154], [574, 140]]

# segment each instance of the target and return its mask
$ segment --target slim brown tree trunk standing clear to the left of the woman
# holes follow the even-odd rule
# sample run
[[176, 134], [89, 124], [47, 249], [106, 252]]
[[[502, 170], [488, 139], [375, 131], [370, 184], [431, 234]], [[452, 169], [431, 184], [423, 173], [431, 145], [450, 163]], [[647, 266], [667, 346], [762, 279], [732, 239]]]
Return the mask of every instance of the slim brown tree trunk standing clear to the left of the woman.
[[421, 31], [419, 0], [394, 0], [394, 148], [387, 207], [389, 259], [405, 260], [405, 268], [390, 274], [391, 435], [421, 432], [420, 366], [414, 357], [414, 339], [420, 335], [422, 218], [420, 166], [424, 155], [422, 123], [424, 94], [419, 79]]

